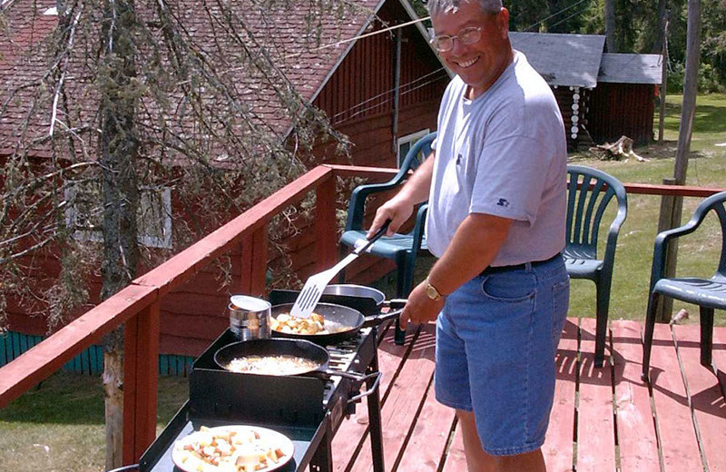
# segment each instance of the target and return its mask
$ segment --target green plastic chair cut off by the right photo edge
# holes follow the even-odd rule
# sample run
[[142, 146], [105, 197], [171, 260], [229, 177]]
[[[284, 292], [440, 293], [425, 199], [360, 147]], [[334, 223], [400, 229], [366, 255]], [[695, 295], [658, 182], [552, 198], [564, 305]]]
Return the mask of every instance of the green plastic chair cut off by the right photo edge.
[[[651, 295], [645, 315], [643, 343], [643, 380], [648, 379], [651, 363], [652, 333], [655, 314], [662, 297], [682, 300], [699, 306], [701, 312], [701, 364], [711, 366], [713, 345], [713, 310], [726, 310], [726, 192], [716, 193], [701, 202], [693, 212], [691, 221], [680, 228], [662, 231], [655, 237], [652, 251]], [[716, 273], [710, 279], [699, 277], [665, 277], [665, 253], [668, 243], [675, 238], [691, 234], [701, 225], [710, 211], [715, 211], [721, 222], [721, 258]]]

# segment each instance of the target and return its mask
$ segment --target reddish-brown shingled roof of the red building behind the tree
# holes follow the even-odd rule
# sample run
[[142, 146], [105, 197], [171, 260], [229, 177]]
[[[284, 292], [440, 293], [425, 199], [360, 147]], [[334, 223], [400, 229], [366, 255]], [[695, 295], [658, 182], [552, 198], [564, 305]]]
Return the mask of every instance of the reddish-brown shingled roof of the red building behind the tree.
[[[202, 2], [202, 5], [192, 0], [173, 0], [169, 4], [175, 6], [173, 15], [178, 17], [179, 24], [185, 26], [189, 37], [201, 44], [206, 64], [230, 77], [226, 84], [230, 93], [245, 98], [245, 105], [257, 117], [258, 123], [253, 125], [265, 127], [283, 139], [294, 126], [296, 116], [286, 111], [283, 98], [276, 93], [275, 86], [289, 87], [310, 103], [348, 54], [355, 38], [367, 29], [381, 27], [375, 14], [385, 1], [347, 3], [345, 5], [348, 6], [341, 6], [326, 15], [319, 25], [310, 25], [310, 19], [319, 13], [314, 11], [315, 8], [333, 4], [289, 0], [272, 3], [270, 7], [269, 3], [262, 5], [254, 0], [231, 0], [225, 5], [229, 5], [238, 21], [247, 26], [246, 32], [225, 29], [219, 19], [229, 12], [221, 12], [215, 6], [218, 4]], [[159, 23], [153, 10], [155, 4], [136, 2], [137, 9], [140, 12], [145, 9], [149, 15], [147, 25]], [[23, 87], [43, 80], [47, 71], [50, 54], [48, 44], [43, 41], [57, 24], [57, 16], [43, 14], [54, 5], [54, 0], [14, 0], [3, 7], [10, 28], [9, 35], [0, 32], [0, 44], [9, 44], [9, 47], [3, 46], [0, 52], [0, 106], [6, 104], [0, 115], [0, 152], [8, 152], [27, 119], [27, 107], [33, 93], [30, 88]], [[340, 5], [344, 4], [341, 2]], [[247, 49], [247, 57], [252, 61], [270, 60], [275, 64], [278, 76], [270, 80], [269, 76], [258, 71], [239, 67], [231, 52], [242, 54], [240, 44]], [[74, 57], [74, 61], [80, 64], [83, 58]], [[90, 78], [86, 79], [83, 74], [69, 74], [67, 80], [69, 100], [83, 100], [81, 106], [74, 107], [84, 110], [72, 117], [74, 123], [92, 118], [97, 109], [94, 87], [86, 80]], [[177, 110], [177, 113], [180, 115], [173, 118], [183, 126], [184, 111]], [[29, 133], [35, 137], [47, 135], [50, 116], [46, 100], [31, 118]]]

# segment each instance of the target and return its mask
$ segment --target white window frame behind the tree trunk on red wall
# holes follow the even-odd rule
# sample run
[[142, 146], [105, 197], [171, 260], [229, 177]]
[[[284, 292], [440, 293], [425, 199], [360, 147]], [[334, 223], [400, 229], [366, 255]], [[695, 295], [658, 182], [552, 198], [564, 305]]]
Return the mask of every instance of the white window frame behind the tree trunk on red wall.
[[[64, 197], [66, 202], [74, 202], [75, 199], [75, 193], [78, 192], [78, 189], [74, 186], [66, 187], [64, 191]], [[139, 206], [142, 207], [144, 202], [148, 202], [146, 199], [143, 198], [144, 192], [149, 192], [148, 190], [142, 190], [140, 195], [140, 201]], [[147, 231], [147, 227], [143, 224], [142, 219], [139, 215], [137, 215], [137, 225], [139, 228], [139, 237], [138, 241], [139, 243], [143, 244], [146, 247], [150, 248], [164, 248], [164, 249], [171, 249], [172, 248], [172, 189], [170, 187], [163, 187], [161, 191], [161, 203], [162, 208], [158, 209], [158, 214], [163, 214], [163, 221], [162, 221], [162, 233], [163, 236], [160, 238], [158, 236], [153, 236], [152, 234]], [[141, 210], [142, 211], [142, 210]], [[76, 215], [78, 213], [77, 208], [75, 207], [75, 204], [71, 205], [68, 210], [65, 211], [65, 223], [68, 226], [74, 226], [75, 225], [75, 219]], [[77, 230], [74, 232], [74, 238], [78, 241], [95, 241], [95, 242], [101, 242], [103, 241], [103, 232], [101, 230]]]

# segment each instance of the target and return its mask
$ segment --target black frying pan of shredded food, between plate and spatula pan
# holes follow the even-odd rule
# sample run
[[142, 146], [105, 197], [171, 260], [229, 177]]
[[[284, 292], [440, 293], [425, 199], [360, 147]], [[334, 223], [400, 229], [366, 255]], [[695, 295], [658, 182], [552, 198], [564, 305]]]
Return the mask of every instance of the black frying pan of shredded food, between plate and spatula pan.
[[[318, 366], [297, 375], [313, 375], [323, 379], [337, 375], [357, 382], [363, 382], [371, 377], [365, 374], [328, 369], [330, 360], [328, 351], [305, 339], [248, 339], [233, 342], [214, 353], [214, 362], [222, 369], [229, 370], [228, 366], [232, 359], [250, 356], [292, 356], [310, 360]], [[274, 374], [270, 373], [270, 375]], [[372, 374], [374, 377], [376, 375], [378, 375], [378, 372]]]

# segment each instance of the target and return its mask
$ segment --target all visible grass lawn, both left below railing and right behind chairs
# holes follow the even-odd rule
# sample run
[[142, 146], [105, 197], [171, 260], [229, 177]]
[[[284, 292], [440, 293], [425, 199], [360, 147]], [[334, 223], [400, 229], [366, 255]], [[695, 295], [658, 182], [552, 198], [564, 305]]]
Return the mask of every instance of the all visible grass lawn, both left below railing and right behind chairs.
[[[663, 145], [651, 145], [636, 152], [650, 162], [604, 162], [586, 155], [572, 156], [572, 162], [590, 165], [612, 173], [622, 182], [660, 183], [672, 177], [675, 143], [678, 137], [680, 96], [669, 97]], [[726, 95], [699, 97], [692, 138], [692, 158], [688, 183], [726, 187]], [[655, 127], [657, 129], [657, 114]], [[684, 221], [690, 218], [697, 199], [687, 199]], [[660, 199], [631, 195], [629, 213], [621, 230], [615, 256], [616, 268], [611, 298], [611, 320], [643, 320], [656, 233]], [[715, 220], [715, 218], [713, 218]], [[679, 273], [711, 275], [721, 240], [720, 230], [709, 221], [698, 234], [680, 246]], [[417, 280], [422, 280], [432, 258], [418, 264]], [[376, 284], [389, 297], [395, 293], [395, 274]], [[674, 310], [683, 305], [676, 302]], [[690, 307], [690, 322], [698, 311]], [[574, 280], [570, 312], [594, 316], [594, 284]], [[717, 323], [726, 325], [722, 312]], [[158, 429], [188, 397], [188, 379], [161, 378], [159, 382]], [[104, 464], [103, 390], [98, 377], [58, 373], [32, 389], [8, 408], [0, 410], [0, 470], [14, 472], [100, 471]]]

